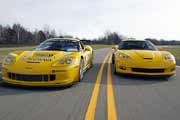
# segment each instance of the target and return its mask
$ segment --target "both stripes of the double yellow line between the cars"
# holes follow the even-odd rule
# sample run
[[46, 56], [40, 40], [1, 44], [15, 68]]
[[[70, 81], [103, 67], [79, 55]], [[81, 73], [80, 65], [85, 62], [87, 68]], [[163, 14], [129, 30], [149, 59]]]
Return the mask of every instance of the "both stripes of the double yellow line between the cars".
[[[109, 58], [109, 60], [108, 60]], [[117, 120], [116, 115], [116, 107], [114, 101], [114, 93], [113, 93], [113, 86], [112, 86], [112, 75], [111, 75], [111, 55], [110, 53], [106, 55], [105, 59], [103, 60], [100, 70], [97, 75], [97, 79], [95, 82], [95, 86], [92, 92], [92, 96], [89, 102], [89, 106], [85, 115], [85, 120], [94, 120], [96, 106], [97, 106], [97, 99], [99, 95], [99, 88], [102, 80], [102, 74], [104, 70], [104, 65], [108, 60], [108, 68], [107, 68], [107, 120]]]

